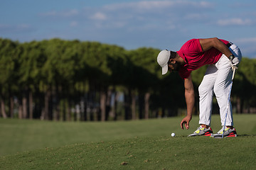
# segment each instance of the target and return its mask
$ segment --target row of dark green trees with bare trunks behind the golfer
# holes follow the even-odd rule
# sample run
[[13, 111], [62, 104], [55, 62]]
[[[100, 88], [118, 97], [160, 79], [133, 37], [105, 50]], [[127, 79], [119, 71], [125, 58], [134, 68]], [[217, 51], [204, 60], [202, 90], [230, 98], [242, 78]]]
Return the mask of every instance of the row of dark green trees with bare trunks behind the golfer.
[[[159, 51], [80, 40], [0, 38], [0, 117], [105, 121], [184, 114], [183, 80], [175, 73], [161, 75]], [[236, 113], [256, 112], [255, 67], [255, 59], [242, 58], [231, 94]], [[192, 74], [197, 94], [205, 70]], [[218, 113], [216, 102], [214, 108]]]

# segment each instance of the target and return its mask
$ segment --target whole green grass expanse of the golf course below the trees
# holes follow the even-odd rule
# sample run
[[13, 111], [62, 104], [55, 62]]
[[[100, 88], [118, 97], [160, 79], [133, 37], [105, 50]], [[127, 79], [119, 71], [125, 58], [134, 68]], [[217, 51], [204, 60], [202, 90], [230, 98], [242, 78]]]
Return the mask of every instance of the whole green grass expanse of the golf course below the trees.
[[[255, 169], [256, 115], [234, 115], [239, 137], [186, 137], [181, 118], [109, 123], [0, 119], [0, 169]], [[220, 129], [213, 115], [214, 132]], [[171, 137], [171, 132], [176, 137]], [[17, 153], [18, 152], [18, 153]]]

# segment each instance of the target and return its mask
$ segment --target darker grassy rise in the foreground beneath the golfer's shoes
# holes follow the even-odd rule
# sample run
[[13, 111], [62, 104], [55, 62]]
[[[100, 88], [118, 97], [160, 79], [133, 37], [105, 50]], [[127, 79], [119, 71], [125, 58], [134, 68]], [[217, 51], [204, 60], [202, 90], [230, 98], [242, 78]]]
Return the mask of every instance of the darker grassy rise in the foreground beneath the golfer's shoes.
[[254, 169], [256, 138], [134, 137], [0, 158], [0, 169]]

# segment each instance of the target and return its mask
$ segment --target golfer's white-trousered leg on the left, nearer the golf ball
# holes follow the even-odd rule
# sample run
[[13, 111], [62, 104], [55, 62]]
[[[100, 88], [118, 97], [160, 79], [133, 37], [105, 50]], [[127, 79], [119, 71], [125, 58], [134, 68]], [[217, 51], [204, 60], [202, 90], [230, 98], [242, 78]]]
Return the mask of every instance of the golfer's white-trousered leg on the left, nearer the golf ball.
[[[210, 118], [213, 108], [213, 87], [217, 76], [218, 69], [215, 65], [209, 65], [203, 81], [198, 87], [199, 91], [199, 124], [203, 128], [210, 126]], [[207, 125], [207, 126], [206, 126]]]

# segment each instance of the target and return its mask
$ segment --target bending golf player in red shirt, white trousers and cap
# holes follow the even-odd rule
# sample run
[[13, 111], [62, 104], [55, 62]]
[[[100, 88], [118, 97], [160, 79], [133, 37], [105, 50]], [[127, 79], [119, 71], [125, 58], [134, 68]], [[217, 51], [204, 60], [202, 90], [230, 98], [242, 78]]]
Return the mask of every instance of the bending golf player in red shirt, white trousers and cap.
[[[238, 46], [227, 40], [218, 38], [188, 40], [177, 52], [162, 50], [157, 62], [162, 68], [162, 74], [177, 71], [184, 80], [187, 115], [181, 120], [181, 128], [189, 128], [192, 111], [195, 103], [195, 94], [191, 79], [193, 70], [208, 64], [199, 91], [199, 128], [188, 136], [206, 135], [211, 137], [236, 137], [233, 128], [232, 106], [228, 100], [232, 87], [233, 69], [238, 69], [242, 58]], [[216, 134], [210, 128], [210, 119], [213, 108], [213, 94], [215, 94], [220, 108], [220, 120], [223, 128]], [[229, 104], [229, 108], [227, 107]], [[228, 109], [228, 113], [227, 113]], [[225, 122], [225, 115], [227, 118]], [[224, 127], [225, 125], [225, 127]]]

